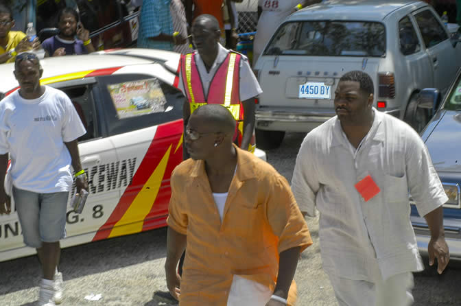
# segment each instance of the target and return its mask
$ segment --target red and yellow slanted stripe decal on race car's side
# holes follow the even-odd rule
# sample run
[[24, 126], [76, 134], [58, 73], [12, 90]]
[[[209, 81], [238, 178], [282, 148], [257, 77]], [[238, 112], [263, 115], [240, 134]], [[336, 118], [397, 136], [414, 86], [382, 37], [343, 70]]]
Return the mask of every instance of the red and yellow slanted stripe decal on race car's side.
[[182, 125], [180, 119], [158, 126], [132, 182], [93, 241], [166, 226], [169, 179], [182, 161]]

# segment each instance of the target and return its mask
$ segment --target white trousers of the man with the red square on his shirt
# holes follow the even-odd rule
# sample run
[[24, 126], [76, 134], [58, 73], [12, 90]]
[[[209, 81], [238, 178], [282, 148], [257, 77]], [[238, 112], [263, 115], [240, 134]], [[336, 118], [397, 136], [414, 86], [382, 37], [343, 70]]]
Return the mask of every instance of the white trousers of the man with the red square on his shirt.
[[408, 306], [412, 296], [413, 274], [405, 272], [376, 283], [329, 275], [340, 306]]

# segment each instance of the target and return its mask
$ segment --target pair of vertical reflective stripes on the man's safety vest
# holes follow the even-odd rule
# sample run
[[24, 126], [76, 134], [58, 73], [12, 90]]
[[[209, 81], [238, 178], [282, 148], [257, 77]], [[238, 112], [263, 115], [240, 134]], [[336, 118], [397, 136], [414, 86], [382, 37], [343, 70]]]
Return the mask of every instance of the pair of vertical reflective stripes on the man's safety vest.
[[[193, 54], [186, 54], [186, 61], [185, 61], [185, 70], [186, 70], [186, 80], [187, 80], [187, 89], [189, 90], [189, 104], [191, 107], [191, 113], [193, 113], [197, 108], [202, 105], [207, 104], [206, 102], [196, 103], [196, 99], [193, 96], [193, 89], [192, 89], [192, 82], [191, 82], [191, 62], [192, 62]], [[233, 89], [233, 78], [234, 78], [234, 67], [235, 67], [235, 60], [237, 58], [237, 54], [231, 53], [229, 58], [229, 64], [227, 69], [227, 77], [226, 77], [226, 91], [224, 93], [224, 104], [226, 108], [232, 113], [235, 121], [240, 120], [240, 104], [231, 104], [232, 98], [232, 89]]]

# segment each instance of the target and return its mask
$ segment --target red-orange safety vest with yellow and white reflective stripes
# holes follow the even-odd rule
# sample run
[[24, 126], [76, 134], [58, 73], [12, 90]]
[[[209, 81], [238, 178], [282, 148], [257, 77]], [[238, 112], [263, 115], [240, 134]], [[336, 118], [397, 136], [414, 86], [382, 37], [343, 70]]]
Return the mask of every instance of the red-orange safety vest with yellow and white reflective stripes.
[[[182, 84], [185, 86], [185, 92], [191, 114], [194, 110], [204, 104], [222, 104], [231, 111], [237, 127], [234, 135], [234, 141], [237, 140], [239, 147], [244, 134], [244, 108], [240, 101], [240, 61], [241, 55], [230, 51], [226, 60], [221, 63], [217, 69], [213, 80], [209, 86], [208, 95], [205, 98], [205, 91], [198, 73], [195, 55], [196, 51], [186, 54], [181, 58], [181, 75]], [[250, 141], [248, 151], [255, 151], [255, 135]]]

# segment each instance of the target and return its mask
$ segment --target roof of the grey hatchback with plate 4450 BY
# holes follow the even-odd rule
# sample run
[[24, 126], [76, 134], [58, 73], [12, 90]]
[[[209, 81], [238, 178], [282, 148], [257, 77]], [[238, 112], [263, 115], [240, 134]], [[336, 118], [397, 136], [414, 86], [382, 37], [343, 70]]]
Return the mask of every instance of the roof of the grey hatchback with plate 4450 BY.
[[427, 3], [415, 0], [329, 0], [299, 10], [289, 16], [287, 21], [306, 19], [382, 21], [388, 14], [405, 6], [416, 10], [427, 6]]

